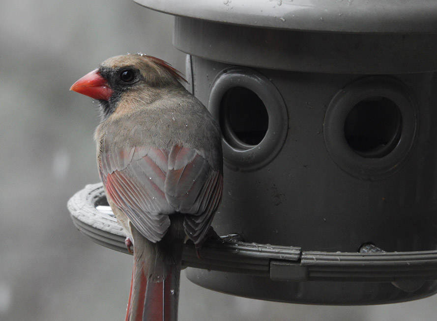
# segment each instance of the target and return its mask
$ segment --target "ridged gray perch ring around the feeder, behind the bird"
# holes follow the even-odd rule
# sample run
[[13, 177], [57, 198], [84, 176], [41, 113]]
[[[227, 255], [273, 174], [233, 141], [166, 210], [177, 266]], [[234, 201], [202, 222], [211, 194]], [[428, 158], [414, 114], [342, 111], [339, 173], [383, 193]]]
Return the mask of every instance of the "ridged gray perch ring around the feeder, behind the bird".
[[[128, 253], [125, 234], [114, 216], [96, 210], [104, 200], [101, 183], [87, 185], [68, 201], [73, 223], [92, 241]], [[320, 252], [296, 246], [244, 242], [239, 235], [208, 240], [203, 259], [193, 242], [184, 245], [182, 265], [269, 277], [275, 281], [396, 282], [399, 279], [436, 280], [437, 251]]]

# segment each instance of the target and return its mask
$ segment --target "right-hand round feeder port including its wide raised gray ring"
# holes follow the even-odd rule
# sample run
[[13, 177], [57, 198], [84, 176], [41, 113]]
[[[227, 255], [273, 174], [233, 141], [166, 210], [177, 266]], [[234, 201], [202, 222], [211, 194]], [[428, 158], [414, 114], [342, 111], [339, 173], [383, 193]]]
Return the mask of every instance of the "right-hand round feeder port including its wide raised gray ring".
[[400, 80], [361, 78], [329, 103], [323, 136], [329, 155], [345, 172], [364, 180], [396, 173], [416, 135], [416, 102]]

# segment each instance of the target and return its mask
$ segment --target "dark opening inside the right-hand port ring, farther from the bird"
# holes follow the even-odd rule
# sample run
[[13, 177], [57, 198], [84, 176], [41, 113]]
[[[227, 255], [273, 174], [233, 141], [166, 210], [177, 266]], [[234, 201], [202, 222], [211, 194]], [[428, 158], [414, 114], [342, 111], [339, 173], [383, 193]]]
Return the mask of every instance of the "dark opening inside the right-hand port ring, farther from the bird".
[[350, 109], [344, 132], [355, 153], [365, 158], [382, 158], [393, 151], [400, 141], [401, 111], [388, 98], [366, 98]]

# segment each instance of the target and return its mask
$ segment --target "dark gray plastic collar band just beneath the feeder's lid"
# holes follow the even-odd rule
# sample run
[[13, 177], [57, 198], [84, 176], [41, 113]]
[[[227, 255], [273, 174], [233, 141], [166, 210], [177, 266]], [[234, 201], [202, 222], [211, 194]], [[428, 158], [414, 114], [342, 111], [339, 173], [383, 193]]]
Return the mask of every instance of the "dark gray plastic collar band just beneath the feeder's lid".
[[231, 65], [314, 73], [397, 74], [437, 70], [437, 56], [429, 54], [437, 51], [436, 32], [437, 28], [434, 33], [410, 34], [273, 31], [176, 17], [173, 43], [187, 54]]

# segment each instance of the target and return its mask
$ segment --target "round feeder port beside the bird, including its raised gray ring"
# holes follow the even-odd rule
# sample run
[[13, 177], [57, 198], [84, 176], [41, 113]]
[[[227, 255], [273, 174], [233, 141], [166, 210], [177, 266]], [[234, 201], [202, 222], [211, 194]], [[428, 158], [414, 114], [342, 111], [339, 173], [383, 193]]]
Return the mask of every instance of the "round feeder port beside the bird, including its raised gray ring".
[[276, 158], [287, 138], [288, 113], [271, 80], [244, 67], [217, 74], [208, 110], [220, 123], [223, 159], [234, 171], [262, 168]]

